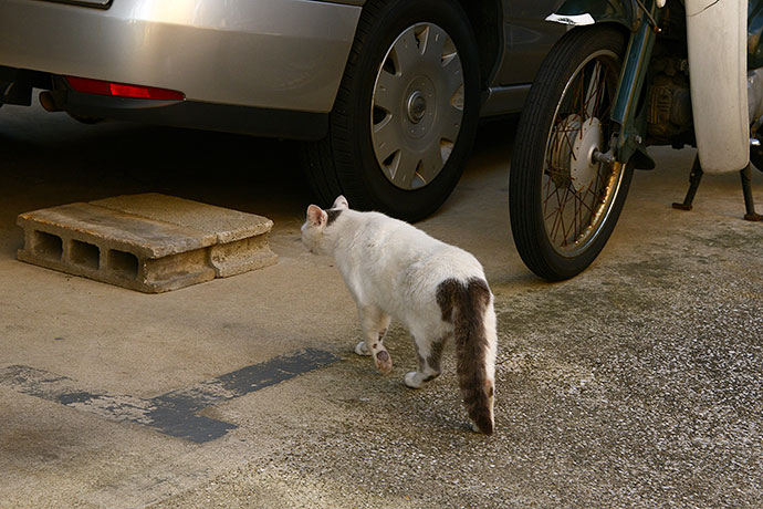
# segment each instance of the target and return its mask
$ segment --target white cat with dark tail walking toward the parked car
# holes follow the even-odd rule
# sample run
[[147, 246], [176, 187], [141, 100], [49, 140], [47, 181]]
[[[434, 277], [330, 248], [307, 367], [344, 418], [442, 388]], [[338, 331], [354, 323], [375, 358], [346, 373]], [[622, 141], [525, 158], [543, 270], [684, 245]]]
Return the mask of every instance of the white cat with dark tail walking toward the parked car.
[[393, 360], [384, 337], [393, 318], [414, 339], [418, 370], [405, 384], [419, 388], [440, 374], [447, 341], [456, 343], [459, 386], [475, 432], [493, 433], [495, 311], [482, 266], [467, 251], [380, 212], [352, 210], [344, 196], [332, 208], [307, 207], [302, 242], [331, 254], [352, 294], [363, 341], [384, 374]]

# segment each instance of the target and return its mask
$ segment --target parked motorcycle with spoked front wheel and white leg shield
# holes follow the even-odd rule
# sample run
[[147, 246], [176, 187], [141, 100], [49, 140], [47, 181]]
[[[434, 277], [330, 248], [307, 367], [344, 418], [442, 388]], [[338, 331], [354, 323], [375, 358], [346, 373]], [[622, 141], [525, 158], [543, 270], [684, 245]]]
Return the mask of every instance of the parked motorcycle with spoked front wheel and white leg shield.
[[509, 183], [524, 263], [560, 281], [585, 270], [615, 228], [650, 145], [697, 147], [703, 173], [763, 169], [763, 0], [567, 0], [569, 25], [546, 55], [518, 126]]

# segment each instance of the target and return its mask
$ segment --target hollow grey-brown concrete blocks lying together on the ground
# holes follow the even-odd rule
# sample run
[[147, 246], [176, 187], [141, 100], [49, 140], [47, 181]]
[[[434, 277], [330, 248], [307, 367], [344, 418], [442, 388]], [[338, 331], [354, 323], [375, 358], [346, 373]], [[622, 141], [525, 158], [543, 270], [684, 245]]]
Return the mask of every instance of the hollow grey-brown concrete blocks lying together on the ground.
[[157, 194], [21, 214], [19, 260], [143, 292], [272, 266], [273, 221]]

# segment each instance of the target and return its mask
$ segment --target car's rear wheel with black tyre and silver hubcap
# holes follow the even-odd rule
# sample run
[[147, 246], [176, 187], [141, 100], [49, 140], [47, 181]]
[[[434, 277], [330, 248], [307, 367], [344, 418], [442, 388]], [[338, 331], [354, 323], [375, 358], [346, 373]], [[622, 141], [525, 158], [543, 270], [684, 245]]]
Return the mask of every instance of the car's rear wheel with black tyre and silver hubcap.
[[442, 205], [477, 132], [478, 58], [457, 1], [367, 2], [328, 135], [304, 150], [318, 198], [411, 221]]

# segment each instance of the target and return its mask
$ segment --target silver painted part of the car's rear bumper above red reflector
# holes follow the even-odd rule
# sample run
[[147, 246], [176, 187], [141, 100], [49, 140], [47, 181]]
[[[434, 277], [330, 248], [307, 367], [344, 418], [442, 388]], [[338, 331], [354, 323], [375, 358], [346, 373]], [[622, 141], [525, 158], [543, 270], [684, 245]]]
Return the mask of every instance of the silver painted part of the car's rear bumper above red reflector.
[[0, 65], [330, 112], [360, 8], [312, 0], [0, 0]]

